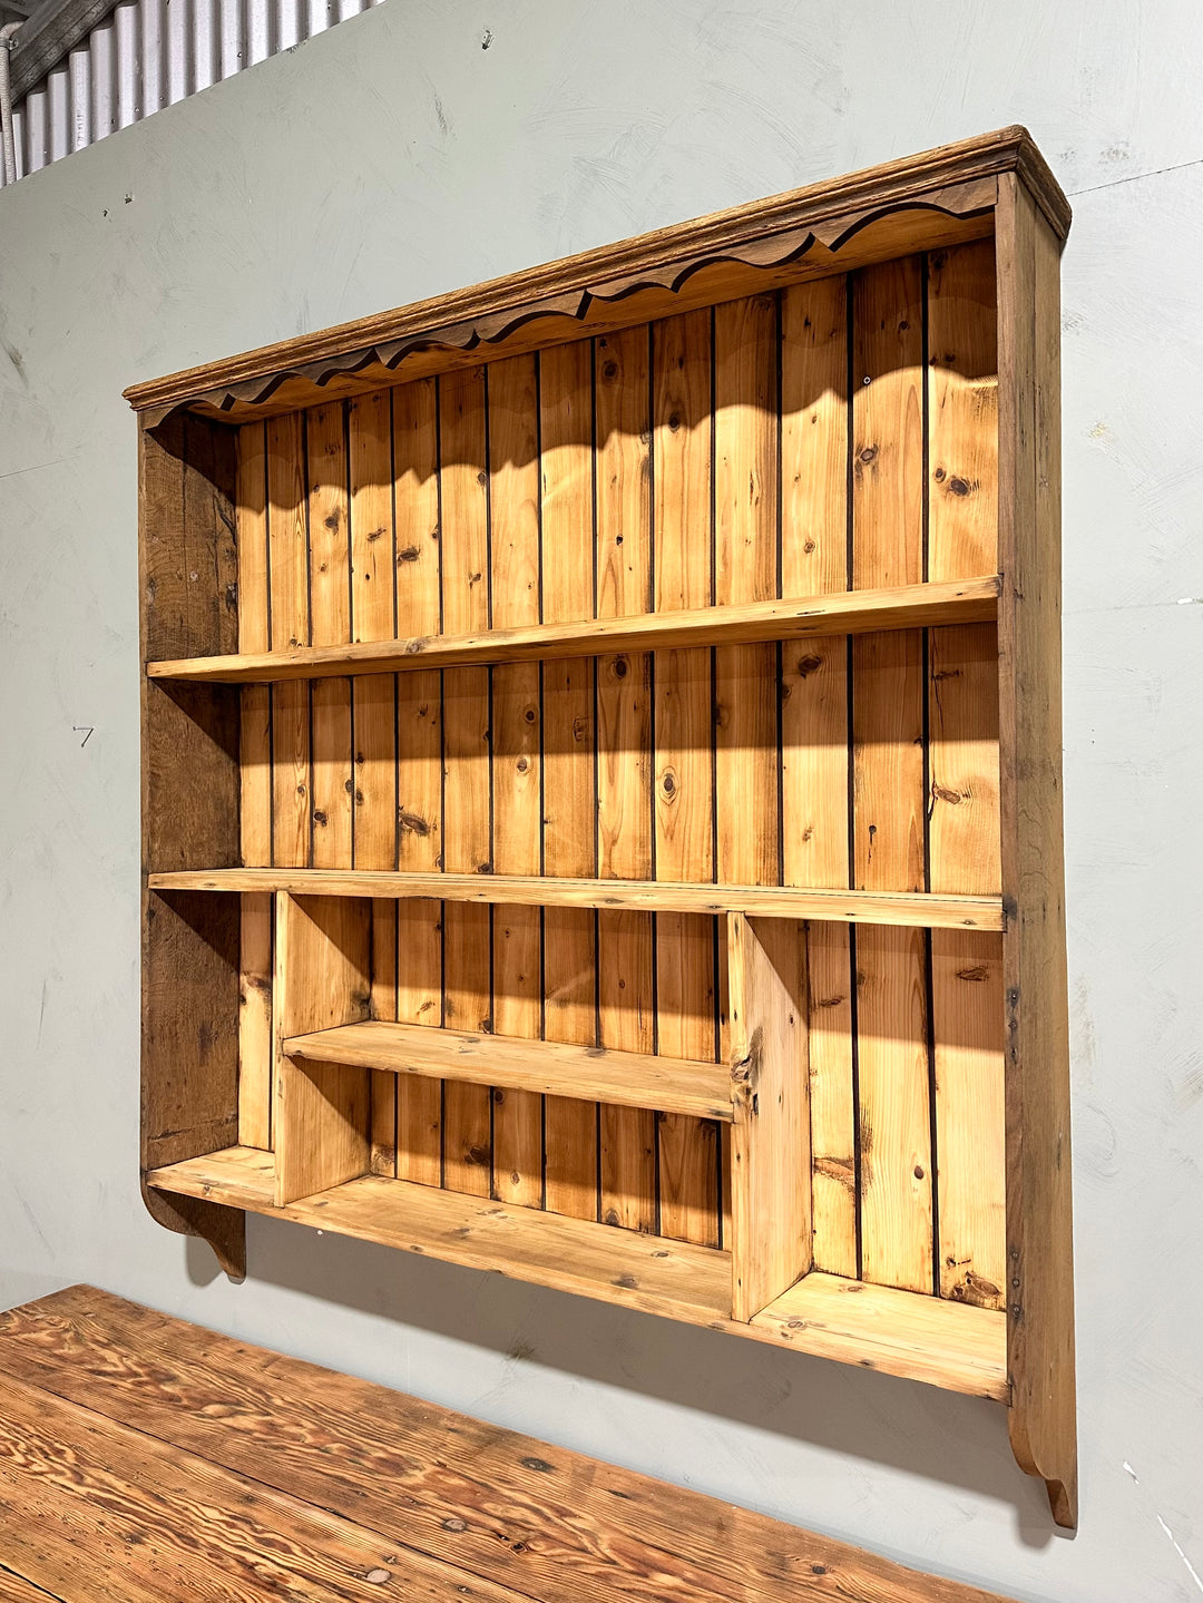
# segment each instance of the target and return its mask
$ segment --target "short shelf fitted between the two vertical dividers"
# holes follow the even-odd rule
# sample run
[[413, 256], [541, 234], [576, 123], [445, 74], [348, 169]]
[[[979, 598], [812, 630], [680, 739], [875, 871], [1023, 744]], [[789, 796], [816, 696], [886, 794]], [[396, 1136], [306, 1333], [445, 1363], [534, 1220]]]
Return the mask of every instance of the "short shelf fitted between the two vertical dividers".
[[376, 1020], [293, 1036], [285, 1040], [284, 1052], [308, 1063], [341, 1063], [389, 1074], [682, 1112], [726, 1124], [732, 1120], [730, 1069], [722, 1063]]

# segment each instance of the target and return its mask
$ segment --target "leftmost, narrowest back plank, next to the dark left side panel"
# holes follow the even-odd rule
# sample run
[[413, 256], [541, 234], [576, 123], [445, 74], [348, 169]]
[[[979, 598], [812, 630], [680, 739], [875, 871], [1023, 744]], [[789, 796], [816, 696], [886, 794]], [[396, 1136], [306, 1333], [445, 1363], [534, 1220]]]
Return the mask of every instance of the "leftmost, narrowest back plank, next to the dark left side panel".
[[[235, 492], [239, 545], [239, 651], [268, 649], [268, 474], [263, 423], [239, 430]], [[271, 864], [271, 689], [242, 688], [239, 827], [242, 862]], [[271, 1148], [272, 1111], [272, 899], [242, 898], [239, 959], [239, 1141]]]

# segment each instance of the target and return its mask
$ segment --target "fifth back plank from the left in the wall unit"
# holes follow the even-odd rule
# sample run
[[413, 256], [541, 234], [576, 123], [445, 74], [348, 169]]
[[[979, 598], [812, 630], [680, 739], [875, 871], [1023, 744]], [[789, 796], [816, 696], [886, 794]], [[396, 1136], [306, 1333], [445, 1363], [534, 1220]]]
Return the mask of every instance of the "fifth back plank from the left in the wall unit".
[[[437, 383], [392, 391], [397, 635], [441, 628]], [[397, 867], [442, 867], [442, 680], [434, 670], [397, 680]], [[442, 1024], [442, 906], [397, 906], [397, 1018]], [[397, 1175], [437, 1186], [442, 1178], [442, 1087], [402, 1076], [397, 1092]]]

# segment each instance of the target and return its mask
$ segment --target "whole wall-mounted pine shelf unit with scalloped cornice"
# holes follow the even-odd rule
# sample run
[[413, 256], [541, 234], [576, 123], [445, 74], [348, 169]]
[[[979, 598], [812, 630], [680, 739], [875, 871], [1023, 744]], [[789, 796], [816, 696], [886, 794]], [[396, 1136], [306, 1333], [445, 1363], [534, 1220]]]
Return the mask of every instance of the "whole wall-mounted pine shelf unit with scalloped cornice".
[[1009, 1407], [1076, 1520], [1024, 130], [128, 391], [147, 1205]]

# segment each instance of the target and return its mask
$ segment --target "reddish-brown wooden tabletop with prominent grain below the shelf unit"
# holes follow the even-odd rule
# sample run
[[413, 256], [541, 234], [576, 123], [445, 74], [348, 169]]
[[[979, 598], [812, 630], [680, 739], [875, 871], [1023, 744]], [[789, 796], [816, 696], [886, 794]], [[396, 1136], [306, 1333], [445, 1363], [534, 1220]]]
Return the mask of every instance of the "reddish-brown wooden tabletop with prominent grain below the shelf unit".
[[0, 1603], [988, 1597], [88, 1286], [0, 1314]]

